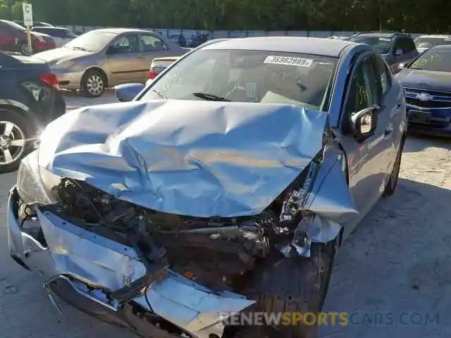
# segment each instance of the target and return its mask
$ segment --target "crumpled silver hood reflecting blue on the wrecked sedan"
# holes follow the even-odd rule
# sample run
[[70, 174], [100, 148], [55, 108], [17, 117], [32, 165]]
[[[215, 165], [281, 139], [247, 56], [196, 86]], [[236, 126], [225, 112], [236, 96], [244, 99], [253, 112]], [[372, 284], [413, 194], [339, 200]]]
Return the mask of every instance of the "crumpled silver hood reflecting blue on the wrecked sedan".
[[322, 149], [326, 118], [288, 104], [91, 106], [47, 126], [39, 165], [156, 211], [255, 215]]

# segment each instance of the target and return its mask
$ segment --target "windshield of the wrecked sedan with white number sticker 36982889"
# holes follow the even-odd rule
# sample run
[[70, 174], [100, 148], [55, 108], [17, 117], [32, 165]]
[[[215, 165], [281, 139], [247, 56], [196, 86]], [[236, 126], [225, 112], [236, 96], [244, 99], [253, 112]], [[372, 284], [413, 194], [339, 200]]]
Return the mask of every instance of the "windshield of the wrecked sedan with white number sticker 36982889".
[[321, 110], [337, 58], [273, 51], [195, 51], [141, 98], [295, 104]]

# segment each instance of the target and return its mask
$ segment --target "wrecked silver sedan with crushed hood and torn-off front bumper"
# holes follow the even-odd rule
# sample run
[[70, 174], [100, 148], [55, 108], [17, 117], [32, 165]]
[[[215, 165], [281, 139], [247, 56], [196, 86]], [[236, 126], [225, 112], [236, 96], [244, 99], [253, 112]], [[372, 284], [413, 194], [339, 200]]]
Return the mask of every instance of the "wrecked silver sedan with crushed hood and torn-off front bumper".
[[395, 192], [406, 129], [371, 46], [208, 42], [133, 101], [47, 127], [9, 196], [11, 257], [56, 308], [144, 337], [315, 337], [225, 319], [321, 311], [338, 247]]

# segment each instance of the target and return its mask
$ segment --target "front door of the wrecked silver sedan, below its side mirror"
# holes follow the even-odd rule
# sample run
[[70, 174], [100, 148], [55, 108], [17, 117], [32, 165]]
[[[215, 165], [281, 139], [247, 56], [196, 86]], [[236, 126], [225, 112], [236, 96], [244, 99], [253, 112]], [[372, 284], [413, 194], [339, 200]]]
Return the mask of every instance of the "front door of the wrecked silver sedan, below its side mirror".
[[[381, 195], [386, 175], [385, 148], [388, 144], [385, 136], [389, 128], [381, 102], [375, 60], [376, 55], [367, 52], [354, 63], [340, 121], [342, 146], [348, 161], [350, 192], [361, 215], [365, 215]], [[351, 121], [364, 109], [369, 111], [363, 116], [365, 122], [369, 122], [366, 126], [369, 130], [360, 135], [362, 137], [357, 137]], [[368, 116], [371, 116], [370, 120]], [[362, 125], [364, 127], [365, 124]], [[347, 227], [346, 231], [351, 232], [352, 228]]]

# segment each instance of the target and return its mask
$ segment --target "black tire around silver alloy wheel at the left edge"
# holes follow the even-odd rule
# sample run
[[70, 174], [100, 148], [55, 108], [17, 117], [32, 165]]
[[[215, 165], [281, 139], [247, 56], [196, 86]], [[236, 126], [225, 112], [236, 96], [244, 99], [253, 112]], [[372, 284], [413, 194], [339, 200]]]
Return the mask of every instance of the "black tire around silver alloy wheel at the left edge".
[[[8, 135], [5, 134], [6, 125], [11, 130], [7, 131]], [[19, 168], [22, 158], [32, 149], [25, 141], [31, 137], [31, 130], [32, 127], [20, 113], [0, 108], [0, 173], [10, 173]], [[23, 143], [18, 142], [22, 137]]]

